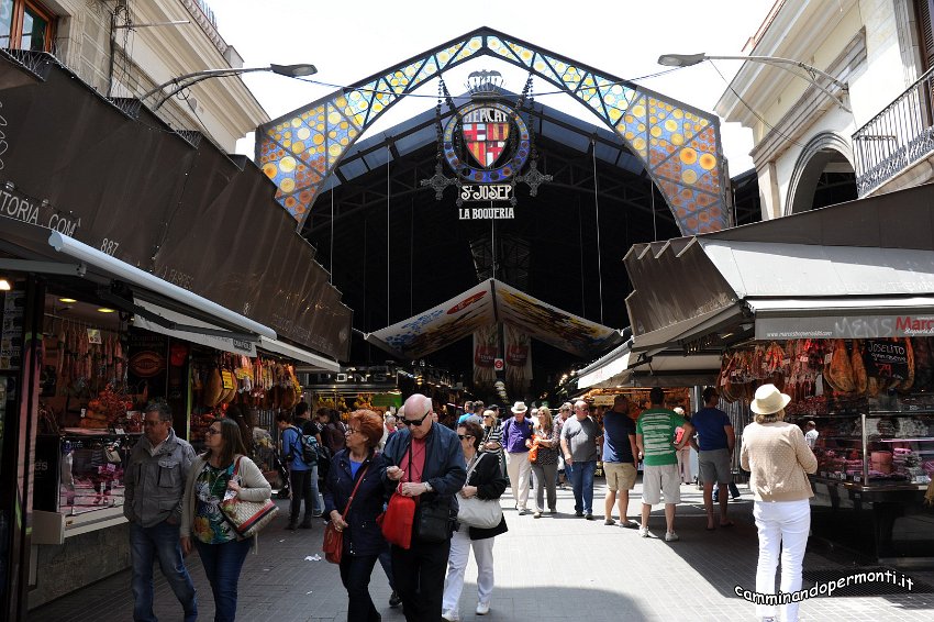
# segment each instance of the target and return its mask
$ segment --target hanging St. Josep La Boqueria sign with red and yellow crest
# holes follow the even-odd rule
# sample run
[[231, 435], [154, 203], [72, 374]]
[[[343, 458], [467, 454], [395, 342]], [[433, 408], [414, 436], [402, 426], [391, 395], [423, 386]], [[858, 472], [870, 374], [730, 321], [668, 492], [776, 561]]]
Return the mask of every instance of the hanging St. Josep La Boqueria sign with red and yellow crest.
[[[501, 88], [502, 76], [499, 71], [474, 71], [468, 79], [472, 101], [454, 111], [453, 116], [441, 129], [441, 101], [438, 101], [438, 133], [441, 148], [435, 175], [421, 180], [421, 185], [435, 190], [441, 200], [448, 186], [457, 188], [458, 218], [511, 219], [513, 207], [518, 203], [515, 186], [520, 181], [529, 185], [530, 196], [537, 193], [538, 186], [551, 181], [551, 175], [543, 175], [535, 162], [532, 133], [522, 118], [522, 104], [505, 101], [505, 91]], [[526, 85], [520, 102], [524, 102], [531, 82]], [[447, 93], [446, 87], [442, 90]], [[453, 102], [447, 97], [448, 105]], [[442, 173], [447, 164], [455, 177]], [[527, 163], [529, 171], [521, 174]], [[489, 208], [464, 209], [465, 202], [488, 202]], [[510, 208], [493, 206], [497, 201], [508, 201]]]

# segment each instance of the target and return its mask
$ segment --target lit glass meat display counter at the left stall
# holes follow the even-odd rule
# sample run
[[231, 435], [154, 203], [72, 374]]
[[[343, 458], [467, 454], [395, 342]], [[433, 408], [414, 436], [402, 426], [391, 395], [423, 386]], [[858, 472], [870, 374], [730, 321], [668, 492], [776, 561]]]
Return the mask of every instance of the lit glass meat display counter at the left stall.
[[138, 437], [77, 427], [36, 437], [34, 544], [125, 522], [123, 465]]

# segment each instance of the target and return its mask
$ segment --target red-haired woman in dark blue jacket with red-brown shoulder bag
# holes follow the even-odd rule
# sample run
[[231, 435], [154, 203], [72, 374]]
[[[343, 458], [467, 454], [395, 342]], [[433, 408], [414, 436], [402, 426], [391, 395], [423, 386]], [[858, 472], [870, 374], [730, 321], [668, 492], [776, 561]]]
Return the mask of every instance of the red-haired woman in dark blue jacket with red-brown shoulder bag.
[[[386, 548], [376, 518], [382, 512], [386, 462], [376, 446], [382, 438], [382, 418], [369, 410], [351, 413], [347, 446], [337, 452], [324, 486], [324, 511], [344, 532], [341, 581], [347, 590], [347, 622], [376, 622], [379, 612], [369, 596], [369, 578], [379, 554]], [[353, 503], [342, 514], [354, 491]]]

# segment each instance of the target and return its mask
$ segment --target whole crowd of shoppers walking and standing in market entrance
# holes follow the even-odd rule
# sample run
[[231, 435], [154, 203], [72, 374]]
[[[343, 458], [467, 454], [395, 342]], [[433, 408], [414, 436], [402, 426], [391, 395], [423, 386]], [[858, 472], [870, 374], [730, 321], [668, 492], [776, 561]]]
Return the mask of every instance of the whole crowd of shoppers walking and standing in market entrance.
[[[563, 467], [572, 486], [575, 515], [593, 520], [593, 477], [602, 458], [604, 524], [616, 524], [616, 507], [622, 526], [638, 527], [640, 535], [649, 537], [652, 506], [664, 501], [664, 540], [677, 542], [674, 527], [680, 485], [691, 481], [679, 452], [693, 446], [707, 529], [733, 525], [726, 495], [719, 502], [718, 517], [713, 492], [714, 485], [735, 486], [731, 466], [736, 435], [730, 418], [716, 408], [716, 389], [705, 389], [702, 397], [704, 407], [688, 418], [680, 409], [666, 408], [664, 391], [653, 389], [651, 403], [637, 421], [630, 415], [632, 404], [624, 395], [596, 418], [582, 400], [561, 404], [555, 418], [547, 407], [534, 409], [534, 418], [529, 416], [533, 409], [518, 401], [502, 421], [494, 406], [487, 409], [475, 402], [471, 410], [465, 409], [466, 416], [446, 418], [456, 430], [438, 423], [432, 400], [418, 393], [394, 414], [357, 410], [346, 423], [333, 409], [319, 410], [310, 421], [308, 407], [301, 403], [277, 418], [278, 455], [288, 466], [292, 498], [287, 529], [311, 529], [323, 512], [343, 534], [340, 576], [347, 592], [348, 621], [381, 620], [369, 592], [379, 560], [392, 588], [389, 604], [401, 604], [405, 620], [456, 622], [471, 552], [477, 567], [475, 611], [485, 615], [494, 589], [493, 544], [496, 536], [509, 531], [499, 503], [507, 487], [518, 515], [527, 513], [533, 481], [534, 518], [546, 511], [555, 514]], [[783, 421], [789, 400], [771, 385], [760, 387], [750, 404], [755, 421], [743, 432], [740, 459], [752, 471], [759, 593], [776, 592], [779, 560], [781, 592], [799, 590], [802, 582], [813, 496], [807, 474], [815, 471], [816, 459], [812, 438]], [[251, 456], [275, 449], [255, 415], [234, 407], [230, 413], [210, 425], [205, 451], [196, 455], [191, 445], [175, 435], [168, 407], [153, 404], [145, 411], [145, 434], [127, 459], [125, 478], [136, 621], [155, 620], [156, 559], [181, 604], [181, 617], [197, 620], [196, 590], [184, 562], [191, 551], [200, 556], [211, 586], [215, 622], [235, 620], [241, 569], [258, 536], [241, 537], [225, 520], [221, 503], [231, 497], [268, 500], [271, 487]], [[333, 457], [321, 464], [310, 459], [302, 447], [308, 442], [332, 451]], [[330, 454], [322, 449], [319, 455]], [[640, 460], [642, 517], [636, 522], [627, 512]], [[390, 544], [380, 527], [379, 519], [393, 495], [414, 502], [407, 544]], [[499, 522], [471, 526], [458, 520], [459, 500], [471, 498], [494, 502], [500, 508]], [[442, 529], [429, 526], [430, 521], [441, 521]], [[778, 619], [778, 608], [756, 607], [761, 620]], [[798, 608], [793, 602], [781, 606], [780, 619], [798, 620]]]

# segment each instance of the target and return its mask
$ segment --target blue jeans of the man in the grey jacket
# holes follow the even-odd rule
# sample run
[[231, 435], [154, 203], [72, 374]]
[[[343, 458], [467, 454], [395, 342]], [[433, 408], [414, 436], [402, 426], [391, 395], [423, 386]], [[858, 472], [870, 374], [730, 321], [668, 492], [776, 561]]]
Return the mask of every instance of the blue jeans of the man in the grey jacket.
[[181, 603], [185, 622], [198, 619], [198, 601], [194, 585], [185, 568], [178, 525], [163, 521], [151, 527], [130, 523], [130, 559], [133, 565], [133, 620], [156, 622], [153, 613], [153, 563], [158, 559], [159, 568], [175, 597]]

